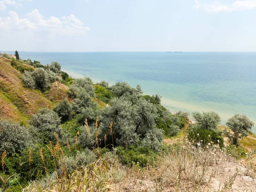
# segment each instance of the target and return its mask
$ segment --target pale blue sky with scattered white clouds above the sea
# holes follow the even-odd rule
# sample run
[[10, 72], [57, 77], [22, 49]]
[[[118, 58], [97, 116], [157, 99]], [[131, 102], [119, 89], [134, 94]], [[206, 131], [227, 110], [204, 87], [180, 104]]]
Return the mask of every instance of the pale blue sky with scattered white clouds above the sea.
[[256, 0], [0, 0], [0, 50], [255, 52]]

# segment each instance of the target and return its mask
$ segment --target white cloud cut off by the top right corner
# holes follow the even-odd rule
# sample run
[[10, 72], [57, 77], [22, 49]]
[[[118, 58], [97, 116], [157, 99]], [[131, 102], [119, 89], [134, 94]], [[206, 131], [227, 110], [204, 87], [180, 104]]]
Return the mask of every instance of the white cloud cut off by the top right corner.
[[232, 5], [222, 4], [218, 1], [201, 4], [195, 0], [193, 9], [203, 9], [206, 12], [233, 12], [256, 8], [256, 0], [236, 0]]

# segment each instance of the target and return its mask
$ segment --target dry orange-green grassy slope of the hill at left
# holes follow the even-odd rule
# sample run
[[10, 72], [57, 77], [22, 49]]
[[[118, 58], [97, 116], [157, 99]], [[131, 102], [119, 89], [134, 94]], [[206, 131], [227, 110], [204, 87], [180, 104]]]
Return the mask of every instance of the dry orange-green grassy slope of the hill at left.
[[[55, 102], [67, 97], [68, 87], [59, 82], [42, 93], [23, 87], [22, 73], [11, 66], [11, 59], [0, 57], [0, 114], [2, 119], [23, 122], [40, 108], [52, 108]], [[32, 66], [17, 61], [23, 67]]]

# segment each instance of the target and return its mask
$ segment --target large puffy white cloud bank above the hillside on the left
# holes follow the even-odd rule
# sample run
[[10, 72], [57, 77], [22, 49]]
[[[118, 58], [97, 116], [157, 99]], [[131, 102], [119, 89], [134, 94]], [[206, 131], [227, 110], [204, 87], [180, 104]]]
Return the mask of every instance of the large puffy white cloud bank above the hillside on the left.
[[89, 27], [84, 26], [75, 15], [58, 17], [44, 17], [37, 9], [25, 15], [27, 18], [19, 18], [16, 12], [10, 11], [9, 17], [0, 17], [1, 32], [46, 32], [50, 35], [86, 34]]

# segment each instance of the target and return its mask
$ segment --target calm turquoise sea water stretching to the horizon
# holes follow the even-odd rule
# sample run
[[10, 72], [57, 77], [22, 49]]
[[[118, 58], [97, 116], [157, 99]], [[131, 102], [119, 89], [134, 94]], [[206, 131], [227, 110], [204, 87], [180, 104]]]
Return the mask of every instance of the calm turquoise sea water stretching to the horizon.
[[58, 61], [74, 78], [140, 84], [171, 112], [215, 111], [222, 124], [239, 113], [256, 124], [256, 52], [20, 52], [20, 58]]

